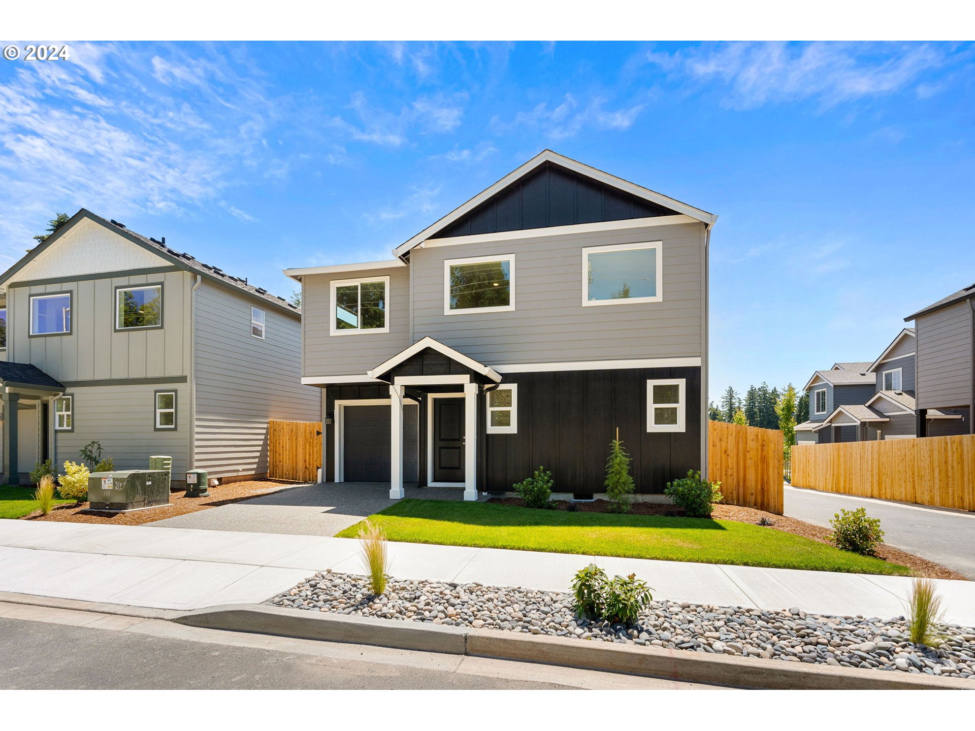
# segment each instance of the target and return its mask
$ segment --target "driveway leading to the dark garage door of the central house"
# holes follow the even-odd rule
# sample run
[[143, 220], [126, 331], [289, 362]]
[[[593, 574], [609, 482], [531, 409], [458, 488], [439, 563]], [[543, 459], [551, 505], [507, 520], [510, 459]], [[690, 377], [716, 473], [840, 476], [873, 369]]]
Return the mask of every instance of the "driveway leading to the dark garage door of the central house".
[[[461, 500], [464, 496], [459, 488], [407, 487], [406, 493], [407, 497], [421, 500]], [[389, 499], [389, 482], [327, 482], [148, 524], [162, 528], [331, 536], [395, 502]]]

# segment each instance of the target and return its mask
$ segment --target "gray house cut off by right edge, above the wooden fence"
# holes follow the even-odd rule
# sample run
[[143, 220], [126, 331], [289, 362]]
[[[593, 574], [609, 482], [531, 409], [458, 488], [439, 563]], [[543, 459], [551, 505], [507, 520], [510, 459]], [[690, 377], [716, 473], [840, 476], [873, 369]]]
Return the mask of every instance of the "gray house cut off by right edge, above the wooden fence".
[[905, 318], [917, 330], [917, 436], [975, 434], [975, 285]]

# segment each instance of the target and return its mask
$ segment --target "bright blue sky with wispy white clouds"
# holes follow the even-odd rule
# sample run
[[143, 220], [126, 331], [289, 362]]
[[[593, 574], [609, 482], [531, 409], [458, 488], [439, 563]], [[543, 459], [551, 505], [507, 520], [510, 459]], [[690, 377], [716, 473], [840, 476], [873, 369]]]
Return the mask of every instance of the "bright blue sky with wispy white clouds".
[[0, 62], [0, 264], [81, 207], [288, 294], [546, 147], [721, 215], [711, 389], [975, 281], [970, 44], [71, 43]]

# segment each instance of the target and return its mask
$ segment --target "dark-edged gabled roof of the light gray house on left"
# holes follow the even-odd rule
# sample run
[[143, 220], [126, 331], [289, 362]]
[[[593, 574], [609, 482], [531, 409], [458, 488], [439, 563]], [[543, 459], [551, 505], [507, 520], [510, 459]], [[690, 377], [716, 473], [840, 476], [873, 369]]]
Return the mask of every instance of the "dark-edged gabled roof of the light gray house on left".
[[219, 282], [220, 284], [227, 285], [234, 289], [239, 289], [240, 291], [248, 294], [254, 299], [262, 300], [268, 304], [280, 307], [285, 311], [291, 312], [293, 315], [300, 314], [300, 309], [294, 307], [290, 302], [288, 302], [284, 297], [278, 297], [271, 294], [266, 289], [261, 289], [259, 287], [254, 287], [248, 284], [246, 279], [240, 277], [234, 277], [226, 272], [224, 272], [219, 267], [211, 266], [210, 264], [204, 264], [202, 261], [197, 261], [196, 257], [191, 256], [188, 253], [180, 252], [175, 249], [171, 249], [160, 241], [156, 241], [153, 238], [146, 238], [141, 234], [137, 234], [135, 231], [130, 231], [124, 225], [116, 220], [102, 218], [100, 215], [88, 211], [87, 209], [81, 209], [74, 215], [72, 215], [67, 222], [61, 226], [57, 231], [51, 234], [47, 239], [45, 239], [41, 244], [30, 250], [26, 256], [22, 257], [20, 261], [14, 264], [10, 269], [0, 275], [0, 286], [5, 285], [6, 282], [17, 274], [20, 269], [22, 269], [26, 264], [33, 261], [37, 256], [50, 249], [58, 240], [67, 233], [71, 228], [73, 228], [77, 223], [83, 219], [89, 219], [95, 221], [99, 225], [104, 226], [108, 230], [117, 233], [119, 236], [127, 239], [128, 241], [136, 244], [142, 249], [149, 250], [152, 253], [171, 261], [176, 264], [180, 269], [184, 269], [188, 272], [194, 274], [199, 274], [205, 279], [211, 280], [212, 282]]

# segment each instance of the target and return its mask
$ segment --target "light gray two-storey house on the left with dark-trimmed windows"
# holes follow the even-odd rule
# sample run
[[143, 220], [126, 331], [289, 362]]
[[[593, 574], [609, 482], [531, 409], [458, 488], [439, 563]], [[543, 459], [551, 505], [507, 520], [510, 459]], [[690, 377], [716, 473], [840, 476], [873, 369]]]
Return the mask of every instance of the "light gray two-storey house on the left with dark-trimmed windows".
[[300, 312], [82, 209], [0, 275], [6, 481], [80, 461], [173, 457], [233, 481], [267, 474], [268, 419], [318, 421], [300, 385]]

